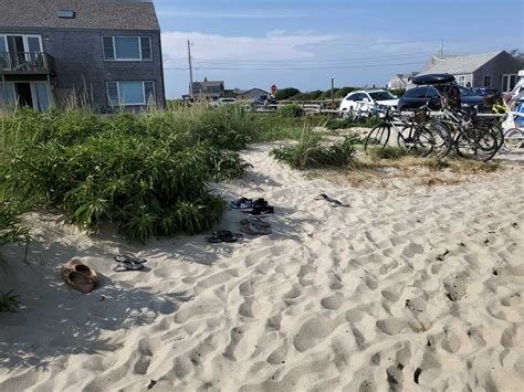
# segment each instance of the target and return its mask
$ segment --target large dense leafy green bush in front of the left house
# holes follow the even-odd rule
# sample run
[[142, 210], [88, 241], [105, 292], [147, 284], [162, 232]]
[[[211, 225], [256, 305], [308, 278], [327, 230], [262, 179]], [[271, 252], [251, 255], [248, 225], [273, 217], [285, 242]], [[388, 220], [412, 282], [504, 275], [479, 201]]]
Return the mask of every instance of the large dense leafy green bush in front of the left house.
[[80, 227], [116, 222], [129, 239], [195, 234], [218, 223], [224, 201], [212, 180], [240, 176], [252, 138], [240, 107], [99, 117], [22, 110], [1, 123], [9, 200], [64, 211]]

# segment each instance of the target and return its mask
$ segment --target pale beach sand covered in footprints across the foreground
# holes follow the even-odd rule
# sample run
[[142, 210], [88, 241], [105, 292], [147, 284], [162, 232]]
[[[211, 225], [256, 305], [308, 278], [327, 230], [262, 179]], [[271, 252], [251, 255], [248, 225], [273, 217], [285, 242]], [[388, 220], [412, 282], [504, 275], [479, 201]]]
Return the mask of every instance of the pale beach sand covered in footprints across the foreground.
[[[127, 244], [59, 214], [1, 250], [1, 391], [518, 391], [524, 383], [524, 157], [459, 186], [352, 188], [275, 162], [216, 189], [264, 197], [273, 233]], [[349, 208], [316, 201], [327, 193]], [[240, 212], [221, 227], [239, 230]], [[115, 273], [134, 252], [145, 272]], [[103, 275], [60, 279], [73, 256]]]

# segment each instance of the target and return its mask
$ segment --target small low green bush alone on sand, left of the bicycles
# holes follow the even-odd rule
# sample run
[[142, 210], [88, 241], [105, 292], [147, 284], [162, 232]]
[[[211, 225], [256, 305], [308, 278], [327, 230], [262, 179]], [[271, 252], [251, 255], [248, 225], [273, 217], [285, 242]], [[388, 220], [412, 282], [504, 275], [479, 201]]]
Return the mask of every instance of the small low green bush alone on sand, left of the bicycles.
[[347, 136], [343, 142], [325, 146], [319, 134], [304, 127], [296, 145], [275, 148], [271, 153], [275, 159], [300, 170], [344, 167], [354, 162], [355, 144], [355, 137]]

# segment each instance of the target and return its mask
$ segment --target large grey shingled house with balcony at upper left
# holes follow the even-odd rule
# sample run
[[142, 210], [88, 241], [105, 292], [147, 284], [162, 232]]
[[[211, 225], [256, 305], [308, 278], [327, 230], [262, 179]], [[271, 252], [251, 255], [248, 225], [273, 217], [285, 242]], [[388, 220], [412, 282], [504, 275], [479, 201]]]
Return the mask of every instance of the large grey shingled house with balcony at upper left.
[[165, 105], [153, 0], [0, 0], [0, 104]]

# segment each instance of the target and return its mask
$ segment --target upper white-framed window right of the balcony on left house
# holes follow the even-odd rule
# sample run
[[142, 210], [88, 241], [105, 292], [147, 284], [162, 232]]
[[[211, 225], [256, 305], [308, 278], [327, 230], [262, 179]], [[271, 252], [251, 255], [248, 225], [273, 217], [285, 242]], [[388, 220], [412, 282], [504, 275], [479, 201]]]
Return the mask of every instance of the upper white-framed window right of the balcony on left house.
[[102, 38], [102, 45], [104, 60], [153, 60], [151, 39], [149, 36], [104, 35]]

